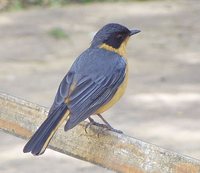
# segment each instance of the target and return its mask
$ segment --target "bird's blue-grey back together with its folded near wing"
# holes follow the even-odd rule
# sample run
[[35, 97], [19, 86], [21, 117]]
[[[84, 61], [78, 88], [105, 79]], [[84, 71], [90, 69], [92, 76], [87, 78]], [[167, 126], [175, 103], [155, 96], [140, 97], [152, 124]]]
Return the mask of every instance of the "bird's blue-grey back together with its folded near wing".
[[65, 130], [88, 118], [112, 98], [124, 80], [125, 69], [123, 57], [100, 48], [89, 48], [75, 61], [70, 72], [74, 73], [72, 83], [76, 87], [67, 96], [70, 118]]

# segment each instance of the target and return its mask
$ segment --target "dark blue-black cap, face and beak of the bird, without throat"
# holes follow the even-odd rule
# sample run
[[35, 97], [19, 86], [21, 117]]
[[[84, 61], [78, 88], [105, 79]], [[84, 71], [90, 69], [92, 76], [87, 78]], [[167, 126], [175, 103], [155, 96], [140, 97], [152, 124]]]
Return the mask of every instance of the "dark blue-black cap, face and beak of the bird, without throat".
[[140, 30], [129, 30], [117, 23], [109, 23], [96, 33], [91, 46], [106, 44], [114, 49], [118, 49], [128, 37], [139, 32]]

